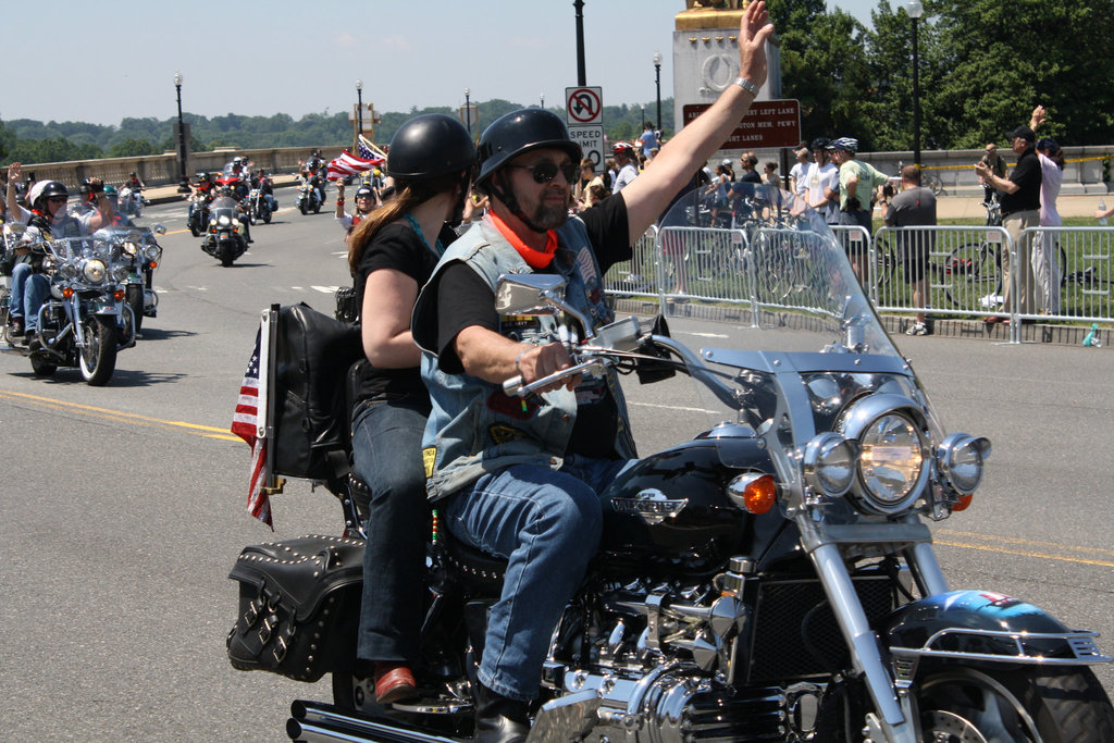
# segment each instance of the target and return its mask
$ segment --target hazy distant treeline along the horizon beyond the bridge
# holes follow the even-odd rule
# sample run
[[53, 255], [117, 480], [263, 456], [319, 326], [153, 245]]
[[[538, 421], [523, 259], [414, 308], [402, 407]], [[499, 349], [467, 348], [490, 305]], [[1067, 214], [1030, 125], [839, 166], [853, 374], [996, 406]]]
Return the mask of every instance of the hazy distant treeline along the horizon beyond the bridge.
[[[472, 121], [473, 129], [483, 127], [498, 117], [521, 108], [509, 100], [489, 100], [478, 104]], [[551, 109], [564, 116], [564, 110]], [[403, 121], [417, 114], [439, 113], [457, 116], [453, 108], [411, 109], [409, 113], [381, 114], [375, 126], [375, 139], [389, 143]], [[646, 116], [656, 118], [656, 101], [646, 107]], [[345, 145], [352, 141], [352, 125], [348, 114], [307, 114], [293, 119], [287, 114], [274, 116], [237, 116], [228, 114], [207, 118], [194, 114], [183, 114], [189, 124], [190, 148], [193, 151], [211, 150], [214, 147], [237, 147], [241, 149], [264, 149], [268, 147], [307, 147], [314, 145]], [[607, 106], [604, 120], [609, 125], [609, 134], [615, 138], [629, 138], [642, 134], [642, 108], [639, 106]], [[177, 117], [158, 120], [155, 118], [125, 118], [119, 126], [84, 124], [80, 121], [49, 121], [43, 124], [31, 119], [12, 119], [0, 123], [0, 164], [11, 162], [52, 163], [61, 160], [84, 160], [98, 157], [128, 157], [157, 155], [177, 149], [175, 124]], [[668, 130], [673, 126], [673, 100], [662, 101], [662, 125]]]

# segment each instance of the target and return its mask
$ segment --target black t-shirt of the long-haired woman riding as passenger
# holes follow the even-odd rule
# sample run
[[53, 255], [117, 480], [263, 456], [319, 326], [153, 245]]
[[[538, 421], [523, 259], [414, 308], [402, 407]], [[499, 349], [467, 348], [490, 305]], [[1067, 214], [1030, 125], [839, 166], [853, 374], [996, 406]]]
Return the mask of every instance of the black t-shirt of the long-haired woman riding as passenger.
[[[444, 226], [441, 229], [442, 246], [448, 246], [455, 238], [456, 233], [451, 228]], [[360, 257], [354, 286], [359, 311], [363, 311], [363, 294], [368, 285], [368, 275], [371, 272], [392, 268], [413, 278], [418, 283], [418, 287], [421, 289], [432, 275], [437, 261], [438, 256], [426, 247], [421, 237], [410, 225], [389, 224], [381, 227]], [[426, 392], [419, 366], [375, 369], [370, 363], [362, 364], [356, 401], [373, 400], [385, 393], [408, 394], [412, 392]]]

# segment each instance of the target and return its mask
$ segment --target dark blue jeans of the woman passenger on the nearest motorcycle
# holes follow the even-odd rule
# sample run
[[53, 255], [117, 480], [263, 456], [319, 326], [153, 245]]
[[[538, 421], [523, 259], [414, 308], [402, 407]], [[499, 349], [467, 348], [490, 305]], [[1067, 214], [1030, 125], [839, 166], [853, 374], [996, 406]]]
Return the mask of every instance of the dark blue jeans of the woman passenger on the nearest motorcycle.
[[352, 469], [371, 490], [356, 647], [356, 655], [365, 661], [412, 663], [419, 657], [430, 534], [421, 459], [428, 417], [424, 391], [355, 407]]

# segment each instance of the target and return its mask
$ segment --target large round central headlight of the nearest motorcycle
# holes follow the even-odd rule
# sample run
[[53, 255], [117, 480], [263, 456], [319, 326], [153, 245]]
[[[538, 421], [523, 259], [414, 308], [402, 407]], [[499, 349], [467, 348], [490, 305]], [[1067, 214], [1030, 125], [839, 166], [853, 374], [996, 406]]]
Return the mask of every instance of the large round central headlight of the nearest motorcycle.
[[900, 507], [924, 468], [920, 431], [905, 416], [887, 413], [867, 427], [859, 443], [859, 471], [868, 500], [883, 511]]

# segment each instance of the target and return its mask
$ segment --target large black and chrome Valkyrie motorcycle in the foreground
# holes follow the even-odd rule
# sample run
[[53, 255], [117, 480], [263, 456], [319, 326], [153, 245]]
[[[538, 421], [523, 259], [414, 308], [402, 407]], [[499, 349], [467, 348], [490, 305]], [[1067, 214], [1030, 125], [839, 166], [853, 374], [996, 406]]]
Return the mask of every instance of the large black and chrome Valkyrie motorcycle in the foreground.
[[[506, 404], [614, 366], [703, 411], [602, 495], [599, 549], [553, 628], [528, 740], [1114, 740], [1114, 707], [1088, 668], [1111, 661], [1095, 633], [956, 590], [937, 560], [931, 526], [971, 504], [989, 441], [944, 428], [821, 218], [766, 187], [745, 204], [749, 299], [709, 307], [730, 314], [733, 348], [693, 350], [633, 316], [592, 331], [560, 276], [500, 278], [499, 314], [557, 315], [575, 361], [508, 381]], [[706, 248], [723, 231], [695, 214], [698, 196], [682, 198], [662, 238]], [[460, 544], [434, 511], [414, 664], [423, 697], [378, 705], [354, 657], [365, 490], [333, 490], [343, 537], [242, 553], [233, 665], [332, 673], [332, 704], [293, 703], [293, 740], [468, 740], [505, 563]]]

